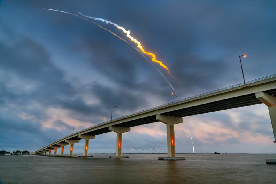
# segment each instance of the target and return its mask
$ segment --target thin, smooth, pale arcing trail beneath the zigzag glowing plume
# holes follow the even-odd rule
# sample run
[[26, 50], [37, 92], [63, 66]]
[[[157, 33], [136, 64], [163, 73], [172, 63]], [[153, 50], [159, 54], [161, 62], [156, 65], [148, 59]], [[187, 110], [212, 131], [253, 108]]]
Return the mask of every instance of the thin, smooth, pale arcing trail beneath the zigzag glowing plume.
[[[145, 57], [145, 55], [143, 55], [143, 54], [141, 53], [140, 50], [138, 50], [137, 48], [133, 47], [133, 46], [132, 46], [130, 43], [128, 43], [125, 39], [123, 39], [122, 37], [118, 36], [117, 34], [115, 34], [114, 32], [110, 31], [109, 29], [104, 28], [103, 26], [97, 24], [96, 22], [91, 21], [90, 19], [88, 19], [88, 18], [89, 18], [88, 16], [85, 16], [85, 15], [83, 15], [83, 14], [81, 14], [81, 13], [79, 13], [79, 14], [81, 14], [82, 16], [77, 15], [77, 14], [73, 14], [73, 13], [69, 13], [69, 12], [66, 12], [66, 11], [55, 10], [55, 9], [47, 9], [47, 8], [43, 8], [43, 9], [51, 10], [51, 11], [58, 11], [58, 12], [61, 12], [61, 13], [65, 13], [65, 14], [70, 14], [70, 15], [77, 16], [77, 17], [79, 17], [79, 18], [82, 18], [82, 19], [84, 19], [84, 20], [87, 20], [87, 21], [89, 21], [89, 22], [91, 22], [91, 23], [93, 23], [93, 24], [99, 26], [100, 28], [102, 28], [102, 29], [104, 29], [104, 30], [110, 32], [110, 33], [113, 34], [114, 36], [118, 37], [119, 39], [121, 39], [122, 41], [124, 41], [125, 43], [127, 43], [128, 45], [130, 45], [130, 46], [131, 46], [133, 49], [135, 49], [137, 52], [139, 52], [139, 54], [142, 55], [142, 56], [147, 60], [147, 62], [149, 62], [152, 66], [154, 66], [154, 68], [155, 68], [155, 69], [158, 71], [158, 73], [165, 79], [165, 81], [170, 85], [170, 87], [171, 87], [173, 90], [175, 90], [174, 87], [173, 87], [173, 85], [168, 81], [168, 79], [164, 76], [164, 74], [162, 74], [162, 73], [160, 72], [160, 70], [158, 70], [158, 68], [156, 68], [156, 66], [155, 66], [147, 57]], [[85, 18], [85, 17], [83, 17], [83, 16], [88, 17], [88, 18]], [[114, 23], [113, 23], [113, 24], [114, 24]], [[155, 58], [155, 55], [154, 55], [154, 58]], [[161, 63], [162, 63], [162, 62], [161, 62]], [[162, 65], [161, 65], [161, 66], [162, 66]], [[166, 65], [164, 65], [164, 66], [166, 66]], [[168, 70], [168, 71], [170, 71], [170, 70]], [[169, 73], [169, 74], [170, 74], [170, 73]]]

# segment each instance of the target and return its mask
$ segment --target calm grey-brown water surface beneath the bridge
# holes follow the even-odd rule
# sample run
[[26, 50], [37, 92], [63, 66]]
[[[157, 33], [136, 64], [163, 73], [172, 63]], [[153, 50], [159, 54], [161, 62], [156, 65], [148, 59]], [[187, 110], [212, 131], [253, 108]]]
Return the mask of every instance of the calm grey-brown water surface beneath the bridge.
[[[111, 154], [110, 154], [111, 155]], [[90, 158], [0, 156], [6, 183], [276, 183], [276, 154], [177, 154], [186, 160], [163, 161], [166, 154], [107, 154]]]

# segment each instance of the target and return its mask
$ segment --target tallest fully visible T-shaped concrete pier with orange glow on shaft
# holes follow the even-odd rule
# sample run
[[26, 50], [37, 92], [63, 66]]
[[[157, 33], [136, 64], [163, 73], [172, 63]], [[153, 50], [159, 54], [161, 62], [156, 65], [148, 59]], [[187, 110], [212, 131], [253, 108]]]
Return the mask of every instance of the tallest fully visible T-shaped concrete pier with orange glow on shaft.
[[156, 115], [156, 120], [165, 123], [167, 125], [167, 146], [168, 157], [175, 157], [175, 128], [174, 125], [182, 123], [181, 117], [165, 116], [161, 114]]

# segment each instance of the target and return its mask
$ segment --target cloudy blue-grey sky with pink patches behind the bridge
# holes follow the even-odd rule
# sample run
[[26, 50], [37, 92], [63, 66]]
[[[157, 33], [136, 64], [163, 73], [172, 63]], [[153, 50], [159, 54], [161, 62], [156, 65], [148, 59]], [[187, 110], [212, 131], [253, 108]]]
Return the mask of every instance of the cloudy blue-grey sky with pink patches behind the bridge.
[[[276, 73], [275, 1], [0, 1], [0, 150], [35, 151], [76, 131], [133, 112]], [[110, 20], [168, 66], [81, 18]], [[95, 21], [123, 39], [116, 27]], [[136, 47], [135, 43], [129, 43]], [[147, 56], [148, 57], [148, 56]], [[150, 58], [150, 57], [148, 57]], [[264, 104], [199, 114], [175, 125], [177, 153], [276, 153]], [[83, 153], [84, 141], [74, 145]], [[132, 127], [122, 152], [163, 148], [162, 122]], [[116, 133], [89, 153], [115, 153]], [[58, 150], [58, 152], [60, 152]], [[148, 151], [135, 151], [147, 153]], [[150, 151], [157, 153], [156, 151]], [[64, 153], [69, 153], [65, 147]]]

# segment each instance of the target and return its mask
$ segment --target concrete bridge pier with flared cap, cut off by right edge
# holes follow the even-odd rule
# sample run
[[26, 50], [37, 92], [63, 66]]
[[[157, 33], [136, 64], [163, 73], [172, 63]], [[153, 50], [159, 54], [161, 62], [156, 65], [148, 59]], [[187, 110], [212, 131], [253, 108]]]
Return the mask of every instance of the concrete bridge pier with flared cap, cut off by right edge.
[[276, 97], [264, 92], [255, 93], [255, 96], [268, 107], [274, 138], [276, 141]]

